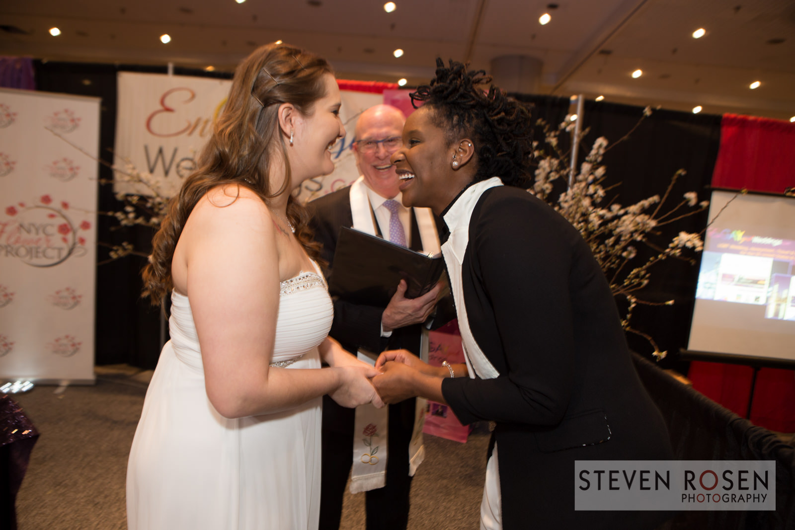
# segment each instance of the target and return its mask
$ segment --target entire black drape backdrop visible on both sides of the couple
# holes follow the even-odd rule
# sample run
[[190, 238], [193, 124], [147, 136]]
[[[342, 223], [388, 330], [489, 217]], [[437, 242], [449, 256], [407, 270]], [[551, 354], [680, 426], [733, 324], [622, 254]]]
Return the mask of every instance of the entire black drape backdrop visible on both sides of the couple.
[[[35, 61], [37, 90], [75, 95], [89, 95], [102, 99], [100, 153], [103, 161], [111, 163], [116, 128], [116, 74], [127, 72], [165, 73], [163, 67], [119, 66], [110, 64], [78, 64]], [[177, 75], [229, 78], [221, 72], [204, 72], [177, 68]], [[533, 104], [533, 119], [543, 118], [551, 126], [562, 122], [568, 114], [569, 99], [554, 96], [518, 95], [514, 97]], [[585, 103], [583, 126], [590, 132], [580, 147], [580, 161], [600, 136], [614, 143], [629, 132], [642, 116], [638, 106], [615, 103]], [[720, 117], [689, 114], [672, 110], [655, 110], [634, 130], [631, 137], [615, 146], [605, 156], [607, 179], [605, 187], [619, 184], [608, 193], [617, 195], [623, 205], [638, 202], [651, 195], [662, 195], [671, 176], [679, 168], [687, 174], [673, 189], [670, 203], [681, 200], [685, 191], [696, 191], [699, 200], [709, 198], [706, 188], [712, 177], [719, 147]], [[540, 131], [537, 132], [542, 139]], [[567, 146], [564, 145], [564, 149]], [[103, 180], [111, 180], [111, 170], [100, 169]], [[99, 211], [122, 208], [111, 185], [99, 186]], [[698, 232], [707, 222], [706, 214], [692, 216], [663, 227], [657, 243], [667, 246], [679, 231]], [[137, 250], [148, 252], [152, 231], [141, 226], [119, 227], [114, 219], [100, 216], [99, 241], [119, 244], [129, 241]], [[639, 253], [638, 261], [651, 253]], [[100, 247], [99, 261], [107, 260], [107, 247]], [[145, 258], [127, 256], [109, 261], [97, 268], [96, 299], [96, 363], [98, 365], [128, 363], [141, 368], [153, 368], [157, 363], [161, 337], [160, 311], [142, 300], [140, 271]], [[635, 309], [634, 327], [648, 333], [661, 350], [677, 351], [687, 346], [693, 297], [696, 292], [697, 265], [686, 261], [669, 260], [653, 269], [653, 279], [640, 297], [662, 302], [675, 300], [673, 306]], [[639, 353], [651, 354], [646, 339], [628, 336], [630, 347]], [[667, 362], [671, 363], [671, 362]], [[665, 366], [666, 361], [662, 362]]]

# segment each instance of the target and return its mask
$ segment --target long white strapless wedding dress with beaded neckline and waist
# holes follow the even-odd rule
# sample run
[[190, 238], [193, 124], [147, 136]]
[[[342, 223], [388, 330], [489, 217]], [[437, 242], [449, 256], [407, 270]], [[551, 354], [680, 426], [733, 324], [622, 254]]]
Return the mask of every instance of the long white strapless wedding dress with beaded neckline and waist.
[[[171, 340], [157, 362], [130, 450], [128, 528], [317, 528], [320, 397], [277, 414], [220, 416], [204, 388], [188, 297], [173, 292], [171, 300]], [[320, 368], [317, 346], [332, 316], [317, 273], [281, 282], [271, 366]]]

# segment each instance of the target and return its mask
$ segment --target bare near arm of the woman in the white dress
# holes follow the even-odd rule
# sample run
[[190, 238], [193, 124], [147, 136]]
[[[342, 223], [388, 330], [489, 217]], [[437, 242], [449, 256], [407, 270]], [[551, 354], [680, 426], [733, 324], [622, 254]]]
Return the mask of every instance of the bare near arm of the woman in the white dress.
[[[360, 366], [270, 367], [279, 306], [278, 237], [250, 191], [234, 202], [218, 188], [200, 200], [180, 236], [207, 397], [226, 417], [293, 408], [331, 394], [347, 406], [377, 400]], [[175, 256], [176, 257], [176, 256]]]

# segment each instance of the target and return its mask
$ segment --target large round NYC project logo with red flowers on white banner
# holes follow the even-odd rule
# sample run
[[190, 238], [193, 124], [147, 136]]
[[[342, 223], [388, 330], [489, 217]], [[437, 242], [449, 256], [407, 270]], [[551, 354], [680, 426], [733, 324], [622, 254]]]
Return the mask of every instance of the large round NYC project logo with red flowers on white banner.
[[32, 267], [54, 267], [87, 254], [82, 232], [91, 222], [78, 222], [67, 201], [41, 195], [36, 203], [16, 203], [0, 217], [0, 258], [17, 258]]

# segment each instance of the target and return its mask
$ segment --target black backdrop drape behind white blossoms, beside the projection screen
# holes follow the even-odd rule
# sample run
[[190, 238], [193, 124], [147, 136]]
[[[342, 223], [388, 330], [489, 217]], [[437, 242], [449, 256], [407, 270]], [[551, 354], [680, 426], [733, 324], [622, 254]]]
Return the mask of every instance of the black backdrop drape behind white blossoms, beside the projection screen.
[[[617, 185], [607, 191], [607, 200], [627, 206], [652, 195], [662, 196], [678, 169], [687, 173], [677, 180], [669, 199], [661, 211], [676, 206], [687, 191], [696, 191], [698, 200], [708, 200], [708, 186], [720, 145], [720, 116], [691, 114], [677, 110], [654, 110], [649, 118], [631, 133], [626, 141], [616, 144], [638, 122], [643, 109], [639, 106], [619, 105], [587, 101], [584, 105], [583, 125], [590, 129], [580, 146], [580, 161], [597, 137], [607, 137], [609, 145], [615, 145], [604, 157], [607, 165], [604, 188]], [[690, 210], [685, 207], [682, 212]], [[653, 211], [653, 210], [652, 210]], [[659, 234], [652, 238], [653, 244], [665, 248], [680, 231], [700, 232], [708, 219], [707, 212], [680, 219], [661, 226]], [[638, 257], [630, 265], [638, 266], [656, 252], [643, 245], [638, 246]], [[652, 269], [650, 284], [638, 298], [652, 302], [674, 300], [673, 306], [638, 305], [634, 310], [633, 327], [652, 336], [661, 350], [674, 354], [686, 347], [690, 333], [693, 303], [696, 295], [700, 253], [689, 253], [696, 260], [669, 259]], [[630, 347], [639, 353], [650, 355], [653, 348], [639, 335], [628, 334]], [[675, 358], [675, 356], [674, 356]], [[663, 361], [663, 366], [673, 361]], [[685, 367], [677, 366], [681, 371]]]

